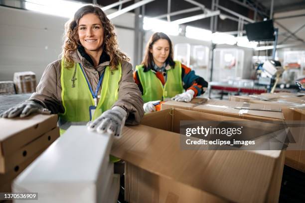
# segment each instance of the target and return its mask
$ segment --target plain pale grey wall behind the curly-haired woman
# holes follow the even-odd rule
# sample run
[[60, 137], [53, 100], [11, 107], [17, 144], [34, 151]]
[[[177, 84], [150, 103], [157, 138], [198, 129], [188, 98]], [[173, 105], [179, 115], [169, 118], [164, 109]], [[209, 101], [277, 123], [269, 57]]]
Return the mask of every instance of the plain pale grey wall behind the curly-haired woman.
[[[133, 14], [115, 22], [132, 27]], [[68, 18], [0, 6], [0, 81], [12, 80], [14, 72], [33, 71], [40, 80], [46, 66], [59, 59], [64, 24]], [[129, 57], [134, 54], [134, 30], [116, 28], [119, 46]]]

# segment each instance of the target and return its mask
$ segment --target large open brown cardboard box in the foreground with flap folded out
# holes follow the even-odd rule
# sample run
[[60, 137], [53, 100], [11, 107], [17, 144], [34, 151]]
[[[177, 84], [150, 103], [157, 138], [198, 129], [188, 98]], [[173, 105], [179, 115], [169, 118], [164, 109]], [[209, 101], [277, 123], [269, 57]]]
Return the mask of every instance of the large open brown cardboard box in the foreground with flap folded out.
[[[111, 151], [126, 161], [125, 199], [132, 203], [278, 202], [285, 151], [181, 148], [185, 136], [179, 134], [181, 120], [245, 121], [238, 114], [229, 117], [221, 112], [171, 107], [146, 114], [139, 126], [125, 127]], [[263, 125], [260, 122], [254, 130]]]

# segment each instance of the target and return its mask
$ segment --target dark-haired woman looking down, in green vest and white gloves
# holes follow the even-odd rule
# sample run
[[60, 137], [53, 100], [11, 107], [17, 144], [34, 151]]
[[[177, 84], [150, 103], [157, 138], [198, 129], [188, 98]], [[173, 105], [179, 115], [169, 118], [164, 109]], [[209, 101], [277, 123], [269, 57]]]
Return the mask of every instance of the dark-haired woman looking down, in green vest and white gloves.
[[134, 79], [142, 92], [146, 113], [155, 111], [155, 104], [170, 98], [190, 102], [208, 87], [208, 83], [194, 71], [173, 60], [172, 43], [162, 32], [156, 32], [150, 38]]

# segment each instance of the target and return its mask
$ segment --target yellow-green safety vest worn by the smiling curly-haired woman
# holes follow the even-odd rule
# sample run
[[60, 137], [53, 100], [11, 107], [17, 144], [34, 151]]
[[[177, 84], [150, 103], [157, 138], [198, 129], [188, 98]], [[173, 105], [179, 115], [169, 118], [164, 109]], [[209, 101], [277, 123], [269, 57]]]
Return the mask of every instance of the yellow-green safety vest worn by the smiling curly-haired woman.
[[[72, 88], [72, 81], [74, 71], [75, 83]], [[118, 66], [118, 70], [111, 71], [110, 67], [105, 68], [104, 79], [101, 86], [101, 97], [96, 107], [96, 110], [92, 116], [92, 120], [96, 119], [105, 110], [111, 108], [111, 106], [118, 100], [119, 95], [119, 81], [122, 75], [121, 64]], [[89, 90], [86, 78], [78, 63], [73, 65], [73, 68], [65, 68], [64, 60], [61, 61], [61, 99], [64, 106], [64, 113], [59, 114], [60, 123], [69, 122], [88, 122], [90, 121], [89, 106], [94, 106], [92, 94]]]

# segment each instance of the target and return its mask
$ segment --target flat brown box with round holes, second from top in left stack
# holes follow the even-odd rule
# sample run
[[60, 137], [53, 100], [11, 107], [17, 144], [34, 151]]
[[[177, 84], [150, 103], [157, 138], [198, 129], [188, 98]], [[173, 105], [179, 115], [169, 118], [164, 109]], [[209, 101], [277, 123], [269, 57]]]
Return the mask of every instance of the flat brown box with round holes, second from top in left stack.
[[6, 157], [0, 156], [0, 172], [6, 173], [13, 170], [18, 164], [25, 161], [41, 149], [48, 147], [59, 137], [59, 127], [44, 133], [34, 141], [19, 148], [16, 152]]

